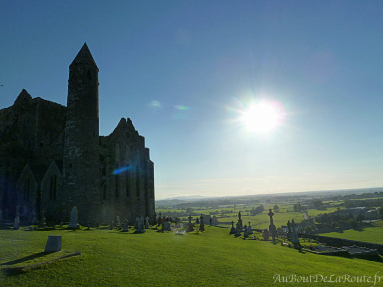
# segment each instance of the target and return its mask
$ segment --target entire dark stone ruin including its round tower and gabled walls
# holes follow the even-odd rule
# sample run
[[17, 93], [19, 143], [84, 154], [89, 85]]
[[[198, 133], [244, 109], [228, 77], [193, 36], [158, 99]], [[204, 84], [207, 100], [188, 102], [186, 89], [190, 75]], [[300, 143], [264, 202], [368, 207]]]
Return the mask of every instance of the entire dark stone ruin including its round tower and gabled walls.
[[31, 222], [68, 221], [74, 206], [82, 225], [116, 216], [154, 221], [154, 163], [145, 138], [122, 118], [99, 136], [98, 68], [86, 45], [69, 66], [67, 107], [22, 90], [0, 110], [0, 210]]

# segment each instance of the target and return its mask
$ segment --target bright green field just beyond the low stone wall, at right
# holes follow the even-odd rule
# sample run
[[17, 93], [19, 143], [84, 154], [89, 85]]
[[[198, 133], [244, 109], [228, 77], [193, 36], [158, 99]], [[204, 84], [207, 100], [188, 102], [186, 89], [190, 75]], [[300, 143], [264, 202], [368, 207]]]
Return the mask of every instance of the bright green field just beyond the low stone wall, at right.
[[383, 220], [366, 224], [366, 227], [357, 230], [348, 229], [319, 235], [383, 244]]

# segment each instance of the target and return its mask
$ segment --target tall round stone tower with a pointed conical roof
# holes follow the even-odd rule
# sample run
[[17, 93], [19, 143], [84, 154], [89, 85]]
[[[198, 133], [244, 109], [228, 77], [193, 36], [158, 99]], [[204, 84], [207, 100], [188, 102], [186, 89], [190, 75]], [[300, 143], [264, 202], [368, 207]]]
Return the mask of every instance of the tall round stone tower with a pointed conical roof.
[[64, 198], [81, 225], [100, 213], [98, 120], [98, 68], [84, 43], [69, 66], [63, 156]]

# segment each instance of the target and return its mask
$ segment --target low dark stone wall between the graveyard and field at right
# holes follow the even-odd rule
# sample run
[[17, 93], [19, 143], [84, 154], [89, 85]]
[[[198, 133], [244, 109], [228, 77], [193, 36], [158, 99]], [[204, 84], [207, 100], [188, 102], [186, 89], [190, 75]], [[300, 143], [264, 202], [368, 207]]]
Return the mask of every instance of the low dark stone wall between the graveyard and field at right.
[[376, 249], [376, 250], [378, 250], [379, 254], [383, 255], [383, 244], [349, 240], [349, 239], [329, 237], [329, 236], [323, 236], [323, 235], [305, 234], [305, 233], [300, 233], [299, 236], [305, 237], [305, 238], [310, 238], [310, 239], [315, 239], [320, 243], [326, 243], [326, 245], [330, 245], [330, 246], [334, 246], [334, 247], [356, 245], [356, 246], [366, 247], [366, 248], [370, 248], [370, 249]]

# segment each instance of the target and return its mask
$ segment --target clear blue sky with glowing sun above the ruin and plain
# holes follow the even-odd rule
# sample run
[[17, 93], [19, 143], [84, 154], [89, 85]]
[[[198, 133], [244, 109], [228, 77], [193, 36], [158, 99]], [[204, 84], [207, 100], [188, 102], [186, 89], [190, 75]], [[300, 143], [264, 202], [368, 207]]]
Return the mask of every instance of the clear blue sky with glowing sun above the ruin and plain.
[[132, 119], [156, 199], [379, 187], [382, 15], [382, 1], [3, 0], [0, 108], [23, 88], [66, 105], [86, 41], [100, 135]]

